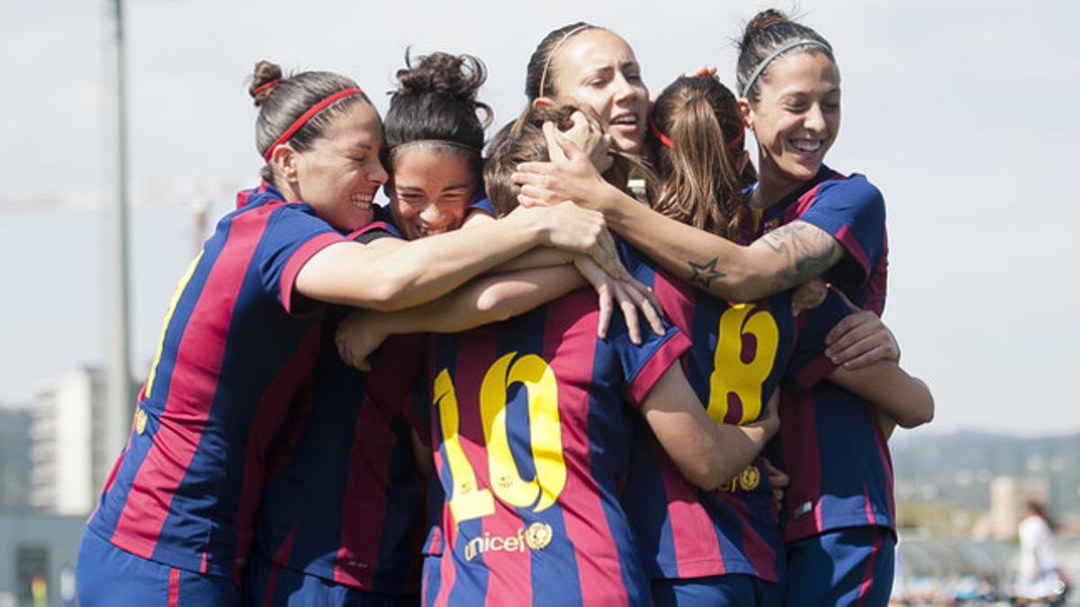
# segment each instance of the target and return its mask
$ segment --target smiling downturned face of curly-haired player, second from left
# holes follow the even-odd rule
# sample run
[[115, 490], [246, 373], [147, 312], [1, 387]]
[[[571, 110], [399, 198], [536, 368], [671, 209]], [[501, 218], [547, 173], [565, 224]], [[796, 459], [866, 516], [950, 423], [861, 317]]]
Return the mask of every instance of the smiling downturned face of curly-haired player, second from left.
[[476, 177], [462, 152], [437, 146], [397, 148], [387, 184], [394, 224], [407, 240], [456, 230], [476, 194]]

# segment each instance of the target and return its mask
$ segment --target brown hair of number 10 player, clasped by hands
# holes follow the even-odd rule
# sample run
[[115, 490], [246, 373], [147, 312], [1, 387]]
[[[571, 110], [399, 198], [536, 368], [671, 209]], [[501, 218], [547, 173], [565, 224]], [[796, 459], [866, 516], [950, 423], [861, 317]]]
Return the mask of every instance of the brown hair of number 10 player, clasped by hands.
[[[572, 105], [529, 107], [513, 122], [505, 124], [496, 133], [487, 146], [487, 160], [484, 162], [484, 187], [487, 198], [491, 201], [499, 216], [503, 216], [517, 207], [517, 194], [521, 188], [514, 185], [511, 175], [523, 162], [546, 162], [548, 140], [543, 135], [543, 123], [553, 122], [559, 131], [573, 126], [570, 117], [579, 109]], [[586, 112], [588, 116], [588, 112]], [[599, 122], [589, 117], [595, 127]], [[647, 175], [648, 171], [642, 164], [616, 147], [608, 148], [612, 157], [611, 167], [604, 173], [604, 178], [623, 191], [632, 173]], [[627, 192], [629, 193], [629, 192]]]

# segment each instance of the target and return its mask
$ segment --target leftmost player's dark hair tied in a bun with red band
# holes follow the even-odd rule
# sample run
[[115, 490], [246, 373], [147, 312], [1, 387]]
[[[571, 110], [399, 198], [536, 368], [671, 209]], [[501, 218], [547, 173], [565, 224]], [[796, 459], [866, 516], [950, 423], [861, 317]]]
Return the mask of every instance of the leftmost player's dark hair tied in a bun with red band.
[[[351, 79], [329, 71], [301, 71], [285, 78], [278, 64], [267, 60], [255, 64], [252, 84], [247, 89], [255, 99], [255, 107], [259, 108], [259, 117], [255, 121], [255, 148], [260, 156], [266, 154], [278, 137], [303, 112], [334, 93], [353, 87], [357, 86]], [[289, 147], [296, 151], [310, 148], [315, 139], [323, 136], [336, 116], [361, 100], [372, 103], [363, 93], [334, 102], [288, 138]], [[264, 179], [273, 180], [270, 164], [262, 166], [259, 173]]]

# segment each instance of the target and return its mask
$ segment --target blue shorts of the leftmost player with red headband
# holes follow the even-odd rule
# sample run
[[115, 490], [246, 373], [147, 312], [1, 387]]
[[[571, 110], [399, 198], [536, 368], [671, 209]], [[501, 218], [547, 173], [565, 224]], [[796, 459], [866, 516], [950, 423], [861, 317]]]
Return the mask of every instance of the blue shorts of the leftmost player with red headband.
[[136, 556], [87, 529], [79, 544], [76, 589], [81, 607], [233, 607], [240, 588], [229, 578], [170, 567]]

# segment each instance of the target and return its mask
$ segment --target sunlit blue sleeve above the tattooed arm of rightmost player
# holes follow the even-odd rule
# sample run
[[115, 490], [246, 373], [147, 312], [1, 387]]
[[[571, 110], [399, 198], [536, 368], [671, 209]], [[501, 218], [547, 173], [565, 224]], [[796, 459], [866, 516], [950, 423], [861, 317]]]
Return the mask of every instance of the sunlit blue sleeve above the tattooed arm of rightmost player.
[[829, 270], [831, 281], [854, 287], [869, 280], [885, 254], [885, 199], [866, 177], [822, 183], [798, 220], [828, 232], [851, 258]]

